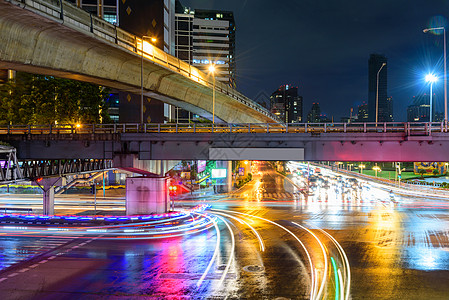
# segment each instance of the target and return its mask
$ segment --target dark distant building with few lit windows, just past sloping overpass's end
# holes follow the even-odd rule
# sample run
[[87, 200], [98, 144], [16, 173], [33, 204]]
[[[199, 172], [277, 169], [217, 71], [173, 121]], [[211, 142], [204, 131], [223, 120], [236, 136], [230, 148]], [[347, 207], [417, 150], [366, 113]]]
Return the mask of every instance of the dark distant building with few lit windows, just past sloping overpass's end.
[[298, 96], [298, 88], [288, 84], [280, 86], [270, 96], [271, 112], [284, 123], [301, 123], [302, 97]]

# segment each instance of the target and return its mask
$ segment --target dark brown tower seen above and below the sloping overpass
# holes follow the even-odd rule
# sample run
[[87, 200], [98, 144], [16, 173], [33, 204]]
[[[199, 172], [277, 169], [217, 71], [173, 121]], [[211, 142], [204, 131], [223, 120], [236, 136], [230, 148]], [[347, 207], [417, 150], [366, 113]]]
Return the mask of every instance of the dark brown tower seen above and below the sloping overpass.
[[[175, 0], [69, 0], [74, 5], [119, 26], [138, 37], [156, 38], [153, 44], [175, 54]], [[117, 8], [118, 7], [118, 8]], [[114, 108], [114, 120], [120, 111], [120, 122], [140, 121], [140, 95], [116, 91], [120, 99]], [[114, 102], [114, 105], [115, 102]], [[165, 122], [174, 115], [174, 107], [145, 97], [144, 122]]]

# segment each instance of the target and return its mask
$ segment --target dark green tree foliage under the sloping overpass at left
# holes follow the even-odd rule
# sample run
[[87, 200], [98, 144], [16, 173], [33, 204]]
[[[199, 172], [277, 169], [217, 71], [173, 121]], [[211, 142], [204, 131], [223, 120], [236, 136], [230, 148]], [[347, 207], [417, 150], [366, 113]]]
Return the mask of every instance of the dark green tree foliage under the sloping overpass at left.
[[18, 73], [0, 86], [0, 124], [108, 123], [107, 97], [91, 83]]

